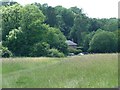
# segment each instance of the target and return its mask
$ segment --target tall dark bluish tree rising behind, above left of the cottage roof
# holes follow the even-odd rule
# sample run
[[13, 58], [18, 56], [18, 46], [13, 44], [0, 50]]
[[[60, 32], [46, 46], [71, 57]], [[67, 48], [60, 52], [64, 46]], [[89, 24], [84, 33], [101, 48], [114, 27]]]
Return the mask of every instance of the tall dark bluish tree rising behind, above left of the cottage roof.
[[74, 23], [74, 14], [70, 9], [66, 9], [62, 6], [56, 6], [56, 18], [57, 18], [57, 28], [69, 39], [69, 34], [71, 27]]

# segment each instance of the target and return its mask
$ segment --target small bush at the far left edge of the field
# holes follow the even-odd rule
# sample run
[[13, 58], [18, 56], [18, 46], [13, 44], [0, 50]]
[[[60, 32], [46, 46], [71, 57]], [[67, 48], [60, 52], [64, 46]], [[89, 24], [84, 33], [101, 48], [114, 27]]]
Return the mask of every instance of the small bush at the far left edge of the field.
[[0, 56], [1, 56], [1, 57], [12, 57], [13, 54], [12, 54], [11, 51], [8, 50], [7, 47], [1, 46], [1, 47], [0, 47]]

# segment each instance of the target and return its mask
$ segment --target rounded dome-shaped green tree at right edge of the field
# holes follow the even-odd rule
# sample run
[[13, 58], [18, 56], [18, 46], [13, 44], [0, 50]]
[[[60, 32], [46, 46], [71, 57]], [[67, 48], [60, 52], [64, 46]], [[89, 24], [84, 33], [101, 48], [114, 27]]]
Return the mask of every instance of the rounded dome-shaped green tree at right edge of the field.
[[117, 39], [115, 34], [108, 31], [98, 31], [90, 41], [89, 51], [95, 53], [115, 52], [117, 49]]

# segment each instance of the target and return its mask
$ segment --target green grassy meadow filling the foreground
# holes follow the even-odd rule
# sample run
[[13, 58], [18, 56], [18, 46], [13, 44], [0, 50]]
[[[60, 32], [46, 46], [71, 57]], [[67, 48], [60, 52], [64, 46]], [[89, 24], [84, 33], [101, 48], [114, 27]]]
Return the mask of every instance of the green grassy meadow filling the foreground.
[[3, 88], [113, 88], [118, 55], [11, 58], [2, 61]]

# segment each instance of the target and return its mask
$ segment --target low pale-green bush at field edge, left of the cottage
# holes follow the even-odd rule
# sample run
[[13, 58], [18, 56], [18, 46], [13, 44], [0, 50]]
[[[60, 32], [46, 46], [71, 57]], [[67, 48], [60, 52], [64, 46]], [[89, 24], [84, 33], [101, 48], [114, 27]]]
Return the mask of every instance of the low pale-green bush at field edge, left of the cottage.
[[57, 49], [50, 49], [49, 50], [49, 57], [64, 57], [64, 54], [62, 52], [59, 52]]

